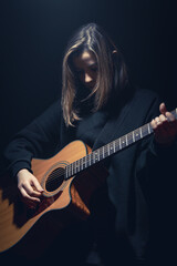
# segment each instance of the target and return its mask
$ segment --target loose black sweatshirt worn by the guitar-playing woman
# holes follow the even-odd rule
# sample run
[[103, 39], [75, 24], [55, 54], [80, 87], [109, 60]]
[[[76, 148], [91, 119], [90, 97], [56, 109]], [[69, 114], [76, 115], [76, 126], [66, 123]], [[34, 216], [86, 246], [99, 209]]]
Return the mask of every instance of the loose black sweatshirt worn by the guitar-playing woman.
[[[66, 127], [60, 102], [56, 101], [19, 132], [6, 149], [4, 157], [11, 175], [15, 176], [21, 168], [31, 171], [32, 157], [50, 157], [71, 141], [82, 140], [95, 150], [150, 122], [159, 115], [159, 99], [154, 92], [136, 90], [118, 112], [117, 109], [118, 103], [116, 106], [115, 102], [114, 112], [88, 112], [75, 127]], [[124, 258], [127, 254], [138, 259], [149, 254], [162, 256], [163, 245], [156, 237], [160, 235], [164, 225], [160, 224], [160, 204], [166, 202], [164, 194], [173, 193], [174, 180], [173, 170], [166, 170], [166, 163], [170, 162], [173, 168], [176, 154], [175, 145], [169, 149], [158, 147], [150, 135], [106, 162], [110, 171], [106, 184], [112, 206], [105, 207], [102, 223], [95, 225], [105, 262], [110, 257], [117, 259], [117, 249]], [[159, 246], [159, 253], [156, 245]]]

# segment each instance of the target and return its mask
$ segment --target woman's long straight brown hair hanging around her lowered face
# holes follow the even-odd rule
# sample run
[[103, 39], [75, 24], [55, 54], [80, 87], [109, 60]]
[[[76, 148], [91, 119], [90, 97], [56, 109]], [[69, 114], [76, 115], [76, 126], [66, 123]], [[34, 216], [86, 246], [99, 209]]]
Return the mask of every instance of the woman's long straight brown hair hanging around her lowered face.
[[97, 61], [96, 84], [88, 95], [94, 94], [94, 111], [105, 106], [112, 92], [118, 94], [127, 83], [126, 65], [113, 41], [97, 24], [83, 25], [69, 42], [63, 59], [62, 109], [66, 126], [81, 119], [74, 106], [77, 88], [72, 58], [84, 50], [92, 51]]

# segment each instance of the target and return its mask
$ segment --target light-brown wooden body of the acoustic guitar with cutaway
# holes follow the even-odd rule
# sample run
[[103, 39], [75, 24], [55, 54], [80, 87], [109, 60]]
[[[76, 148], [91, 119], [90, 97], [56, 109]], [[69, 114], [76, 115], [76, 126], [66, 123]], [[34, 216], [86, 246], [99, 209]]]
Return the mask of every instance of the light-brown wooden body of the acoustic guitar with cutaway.
[[70, 178], [63, 176], [66, 165], [90, 152], [83, 142], [74, 141], [51, 158], [32, 160], [33, 174], [44, 188], [42, 201], [34, 211], [24, 206], [13, 180], [9, 176], [1, 180], [1, 253], [11, 247], [21, 253], [23, 248], [23, 256], [38, 257], [66, 225], [90, 216], [90, 201], [104, 183], [107, 172], [103, 167], [91, 167]]

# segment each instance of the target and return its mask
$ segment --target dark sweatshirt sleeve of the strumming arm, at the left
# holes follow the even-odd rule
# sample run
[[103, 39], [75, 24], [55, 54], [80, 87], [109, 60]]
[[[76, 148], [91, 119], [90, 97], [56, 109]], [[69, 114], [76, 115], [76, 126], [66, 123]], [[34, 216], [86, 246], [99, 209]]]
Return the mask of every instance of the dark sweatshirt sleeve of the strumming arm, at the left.
[[43, 114], [17, 133], [4, 150], [11, 176], [21, 168], [31, 171], [32, 157], [46, 158], [56, 153], [60, 142], [61, 108], [54, 102]]

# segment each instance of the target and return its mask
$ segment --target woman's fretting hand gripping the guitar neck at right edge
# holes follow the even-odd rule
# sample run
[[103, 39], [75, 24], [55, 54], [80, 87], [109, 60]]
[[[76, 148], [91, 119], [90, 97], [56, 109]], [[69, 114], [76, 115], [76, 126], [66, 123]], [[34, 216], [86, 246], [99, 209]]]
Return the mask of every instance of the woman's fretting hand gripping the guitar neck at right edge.
[[177, 120], [167, 111], [165, 103], [159, 105], [160, 115], [152, 120], [155, 141], [163, 146], [170, 146], [177, 136]]

